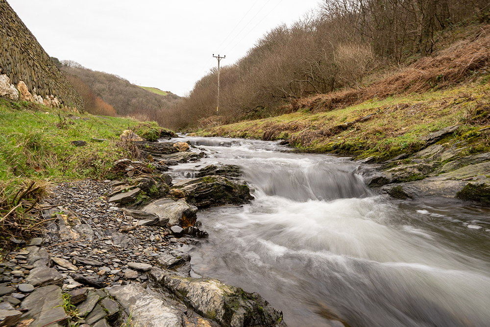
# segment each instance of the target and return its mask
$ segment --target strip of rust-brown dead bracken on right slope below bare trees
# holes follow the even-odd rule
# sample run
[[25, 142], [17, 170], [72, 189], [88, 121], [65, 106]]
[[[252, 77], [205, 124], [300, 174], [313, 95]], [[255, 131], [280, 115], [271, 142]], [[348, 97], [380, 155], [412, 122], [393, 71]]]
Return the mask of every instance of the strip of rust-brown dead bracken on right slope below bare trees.
[[422, 57], [402, 72], [363, 89], [317, 95], [291, 102], [293, 110], [330, 111], [369, 99], [442, 89], [468, 80], [475, 72], [490, 74], [490, 25], [435, 57]]

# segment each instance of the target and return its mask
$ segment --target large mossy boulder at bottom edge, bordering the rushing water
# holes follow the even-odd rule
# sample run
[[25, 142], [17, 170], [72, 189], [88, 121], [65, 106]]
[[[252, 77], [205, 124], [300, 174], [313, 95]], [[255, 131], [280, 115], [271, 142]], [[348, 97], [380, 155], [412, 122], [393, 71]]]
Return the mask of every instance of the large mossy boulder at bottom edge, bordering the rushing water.
[[217, 279], [166, 276], [164, 285], [205, 318], [221, 326], [286, 326], [282, 312], [257, 293], [247, 293]]

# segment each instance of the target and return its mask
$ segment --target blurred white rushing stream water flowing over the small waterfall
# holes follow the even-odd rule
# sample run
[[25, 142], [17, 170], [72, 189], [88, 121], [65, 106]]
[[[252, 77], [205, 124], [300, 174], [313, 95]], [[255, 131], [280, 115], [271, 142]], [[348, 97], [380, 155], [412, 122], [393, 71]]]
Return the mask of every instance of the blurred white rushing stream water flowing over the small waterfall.
[[[369, 166], [274, 142], [186, 138], [240, 166], [255, 200], [198, 212], [196, 274], [258, 292], [290, 327], [490, 326], [490, 211], [392, 201]], [[195, 150], [198, 151], [198, 150]]]

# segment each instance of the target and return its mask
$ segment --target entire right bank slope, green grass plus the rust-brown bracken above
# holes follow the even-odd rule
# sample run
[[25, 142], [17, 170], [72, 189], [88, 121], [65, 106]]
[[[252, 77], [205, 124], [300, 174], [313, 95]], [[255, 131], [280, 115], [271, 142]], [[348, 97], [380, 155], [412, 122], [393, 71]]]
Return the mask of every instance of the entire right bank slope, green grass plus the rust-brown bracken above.
[[381, 161], [416, 152], [423, 136], [458, 124], [451, 142], [469, 139], [467, 152], [490, 151], [490, 25], [465, 25], [442, 36], [444, 50], [363, 89], [299, 99], [289, 106], [291, 114], [199, 134], [285, 139], [302, 151]]

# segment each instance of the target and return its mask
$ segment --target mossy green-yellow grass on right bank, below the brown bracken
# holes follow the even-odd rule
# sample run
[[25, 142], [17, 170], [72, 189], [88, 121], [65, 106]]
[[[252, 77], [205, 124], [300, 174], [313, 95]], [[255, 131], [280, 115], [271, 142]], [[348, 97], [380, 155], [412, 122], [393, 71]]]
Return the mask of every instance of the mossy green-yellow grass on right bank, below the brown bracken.
[[[418, 151], [424, 143], [421, 138], [430, 132], [461, 125], [458, 132], [444, 142], [466, 139], [471, 144], [468, 152], [489, 151], [488, 77], [445, 91], [373, 99], [327, 112], [302, 110], [208, 128], [200, 134], [287, 139], [302, 151], [376, 156], [385, 160], [400, 153]], [[366, 120], [359, 120], [363, 117]]]

